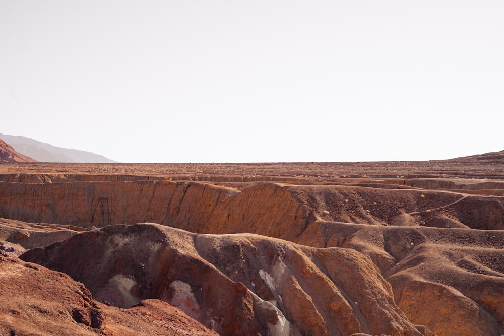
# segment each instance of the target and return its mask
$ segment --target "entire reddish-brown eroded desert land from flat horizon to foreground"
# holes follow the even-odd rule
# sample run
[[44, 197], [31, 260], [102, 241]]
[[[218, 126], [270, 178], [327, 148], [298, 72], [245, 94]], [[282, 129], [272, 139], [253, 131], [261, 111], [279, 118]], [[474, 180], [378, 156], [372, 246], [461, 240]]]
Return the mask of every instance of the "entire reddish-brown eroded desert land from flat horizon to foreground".
[[504, 335], [504, 151], [334, 163], [8, 157], [0, 335]]

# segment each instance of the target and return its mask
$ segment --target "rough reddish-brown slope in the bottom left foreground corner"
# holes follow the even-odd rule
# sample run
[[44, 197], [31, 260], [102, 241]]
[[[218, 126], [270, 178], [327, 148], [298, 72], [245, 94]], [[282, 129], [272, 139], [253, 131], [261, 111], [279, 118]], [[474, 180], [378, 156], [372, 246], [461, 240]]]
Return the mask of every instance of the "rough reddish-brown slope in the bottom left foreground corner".
[[161, 300], [128, 310], [92, 299], [66, 274], [12, 258], [0, 251], [0, 334], [166, 335], [217, 334]]

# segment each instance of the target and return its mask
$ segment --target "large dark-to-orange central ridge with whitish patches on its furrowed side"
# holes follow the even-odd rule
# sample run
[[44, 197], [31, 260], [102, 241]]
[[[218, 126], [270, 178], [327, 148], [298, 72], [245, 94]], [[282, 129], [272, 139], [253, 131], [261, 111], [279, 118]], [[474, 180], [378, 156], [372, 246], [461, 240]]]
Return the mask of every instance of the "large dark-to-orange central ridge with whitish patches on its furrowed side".
[[99, 301], [161, 299], [220, 334], [431, 334], [407, 320], [379, 270], [352, 249], [137, 224], [21, 258], [79, 279]]

